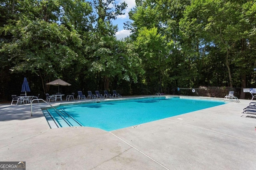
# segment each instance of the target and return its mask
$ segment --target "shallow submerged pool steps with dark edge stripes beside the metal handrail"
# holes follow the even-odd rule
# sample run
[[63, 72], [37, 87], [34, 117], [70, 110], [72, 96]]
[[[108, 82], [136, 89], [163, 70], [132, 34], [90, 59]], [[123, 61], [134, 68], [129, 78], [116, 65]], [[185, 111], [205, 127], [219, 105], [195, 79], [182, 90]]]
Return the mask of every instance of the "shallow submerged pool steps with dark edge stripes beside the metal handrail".
[[56, 109], [42, 111], [46, 117], [46, 120], [48, 121], [50, 128], [82, 126], [75, 119], [73, 119], [73, 117], [66, 114], [63, 110], [60, 111], [64, 115], [59, 113], [59, 111], [56, 111]]

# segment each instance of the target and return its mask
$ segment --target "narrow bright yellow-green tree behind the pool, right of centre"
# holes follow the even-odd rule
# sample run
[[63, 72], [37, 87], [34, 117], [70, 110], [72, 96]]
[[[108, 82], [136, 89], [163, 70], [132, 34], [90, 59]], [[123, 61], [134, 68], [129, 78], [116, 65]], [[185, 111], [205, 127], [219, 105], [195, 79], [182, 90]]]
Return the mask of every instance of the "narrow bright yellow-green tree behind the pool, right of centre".
[[143, 68], [146, 70], [146, 82], [151, 85], [156, 84], [155, 78], [158, 77], [157, 84], [160, 92], [163, 92], [162, 87], [167, 78], [166, 69], [168, 68], [168, 57], [172, 43], [172, 41], [167, 41], [165, 35], [159, 34], [155, 27], [140, 29], [136, 39], [137, 51], [143, 61]]

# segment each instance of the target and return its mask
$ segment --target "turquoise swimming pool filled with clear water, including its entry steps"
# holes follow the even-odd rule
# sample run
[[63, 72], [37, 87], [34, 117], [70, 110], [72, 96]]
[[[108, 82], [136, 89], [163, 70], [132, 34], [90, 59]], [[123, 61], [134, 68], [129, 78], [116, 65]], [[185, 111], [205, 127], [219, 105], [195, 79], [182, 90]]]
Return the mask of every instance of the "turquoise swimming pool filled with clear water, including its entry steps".
[[63, 105], [57, 107], [61, 113], [55, 109], [43, 112], [46, 119], [56, 119], [59, 127], [87, 126], [113, 131], [222, 104], [225, 102], [161, 97]]

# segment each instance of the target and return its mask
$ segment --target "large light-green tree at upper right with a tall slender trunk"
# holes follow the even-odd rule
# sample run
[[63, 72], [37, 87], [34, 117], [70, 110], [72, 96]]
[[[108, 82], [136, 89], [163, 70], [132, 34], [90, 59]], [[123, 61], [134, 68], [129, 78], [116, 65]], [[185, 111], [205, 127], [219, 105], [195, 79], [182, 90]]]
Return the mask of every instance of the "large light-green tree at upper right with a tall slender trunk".
[[[252, 5], [252, 2], [246, 2]], [[193, 0], [186, 8], [184, 19], [180, 21], [186, 37], [197, 37], [213, 43], [226, 53], [226, 67], [230, 87], [233, 87], [230, 64], [237, 52], [236, 43], [246, 37], [243, 26], [243, 1]], [[233, 54], [232, 54], [233, 53]], [[232, 58], [230, 58], [232, 57]]]

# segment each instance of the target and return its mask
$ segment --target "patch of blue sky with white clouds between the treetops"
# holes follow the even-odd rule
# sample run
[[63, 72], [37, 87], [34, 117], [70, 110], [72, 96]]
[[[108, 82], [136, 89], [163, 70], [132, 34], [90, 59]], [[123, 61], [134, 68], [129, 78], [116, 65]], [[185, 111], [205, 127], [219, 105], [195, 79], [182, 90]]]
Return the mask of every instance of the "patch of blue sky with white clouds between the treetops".
[[124, 29], [124, 22], [130, 21], [128, 12], [135, 7], [135, 0], [115, 0], [115, 2], [116, 4], [126, 2], [126, 4], [128, 5], [126, 10], [124, 11], [125, 14], [122, 16], [118, 16], [116, 20], [112, 21], [114, 25], [118, 25], [118, 32], [116, 32], [116, 38], [122, 39], [130, 35], [130, 31]]

